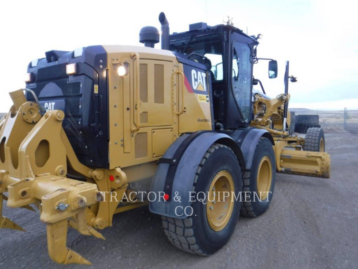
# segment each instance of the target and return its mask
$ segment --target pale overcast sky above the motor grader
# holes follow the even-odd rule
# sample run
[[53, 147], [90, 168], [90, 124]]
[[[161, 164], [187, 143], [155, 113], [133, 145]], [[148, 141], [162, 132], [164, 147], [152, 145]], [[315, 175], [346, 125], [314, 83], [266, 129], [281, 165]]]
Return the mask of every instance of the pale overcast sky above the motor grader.
[[[284, 91], [290, 61], [290, 107], [358, 109], [358, 18], [356, 1], [3, 1], [0, 10], [2, 83], [0, 112], [10, 108], [9, 91], [24, 87], [28, 63], [52, 49], [139, 43], [146, 25], [160, 29], [164, 11], [170, 33], [190, 23], [222, 24], [225, 15], [248, 34], [263, 34], [258, 57], [274, 58], [279, 76], [268, 79], [267, 61], [254, 76], [272, 97]], [[160, 48], [156, 44], [156, 48]]]

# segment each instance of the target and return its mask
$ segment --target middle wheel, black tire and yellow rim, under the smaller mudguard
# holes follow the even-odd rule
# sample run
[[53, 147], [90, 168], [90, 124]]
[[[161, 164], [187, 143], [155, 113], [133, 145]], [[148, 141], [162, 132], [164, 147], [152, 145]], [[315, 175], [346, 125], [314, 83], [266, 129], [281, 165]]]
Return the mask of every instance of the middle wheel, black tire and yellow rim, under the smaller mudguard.
[[241, 215], [258, 217], [269, 208], [275, 187], [275, 177], [276, 162], [272, 143], [266, 137], [261, 137], [256, 145], [251, 170], [245, 171], [243, 175]]

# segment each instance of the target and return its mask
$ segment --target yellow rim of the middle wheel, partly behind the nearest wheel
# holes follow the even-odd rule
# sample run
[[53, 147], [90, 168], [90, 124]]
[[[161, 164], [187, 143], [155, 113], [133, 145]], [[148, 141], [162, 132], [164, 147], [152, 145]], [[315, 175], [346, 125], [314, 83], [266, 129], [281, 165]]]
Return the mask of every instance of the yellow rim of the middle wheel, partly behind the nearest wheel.
[[266, 199], [271, 189], [272, 165], [268, 156], [263, 156], [257, 170], [257, 195], [263, 200]]

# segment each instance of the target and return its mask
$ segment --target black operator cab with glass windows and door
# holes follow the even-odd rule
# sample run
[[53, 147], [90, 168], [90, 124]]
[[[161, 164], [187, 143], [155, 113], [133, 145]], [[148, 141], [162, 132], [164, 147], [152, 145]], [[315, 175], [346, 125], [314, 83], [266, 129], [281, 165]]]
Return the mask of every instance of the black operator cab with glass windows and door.
[[[212, 82], [214, 122], [224, 129], [247, 127], [253, 119], [252, 82], [257, 38], [227, 25], [189, 25], [189, 31], [169, 36], [178, 58], [202, 63]], [[272, 77], [277, 76], [276, 74]], [[209, 81], [210, 82], [210, 81]]]

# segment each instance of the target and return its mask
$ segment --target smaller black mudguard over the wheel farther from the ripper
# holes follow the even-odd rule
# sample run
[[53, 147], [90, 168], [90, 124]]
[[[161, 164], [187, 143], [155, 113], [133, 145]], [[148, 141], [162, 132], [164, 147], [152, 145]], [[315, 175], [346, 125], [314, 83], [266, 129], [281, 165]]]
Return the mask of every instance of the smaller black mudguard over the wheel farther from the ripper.
[[251, 170], [253, 155], [258, 140], [261, 137], [266, 137], [270, 140], [272, 145], [275, 145], [274, 138], [265, 129], [258, 129], [255, 127], [247, 127], [245, 129], [238, 129], [230, 134], [231, 138], [240, 146], [241, 152], [245, 160], [245, 170]]

